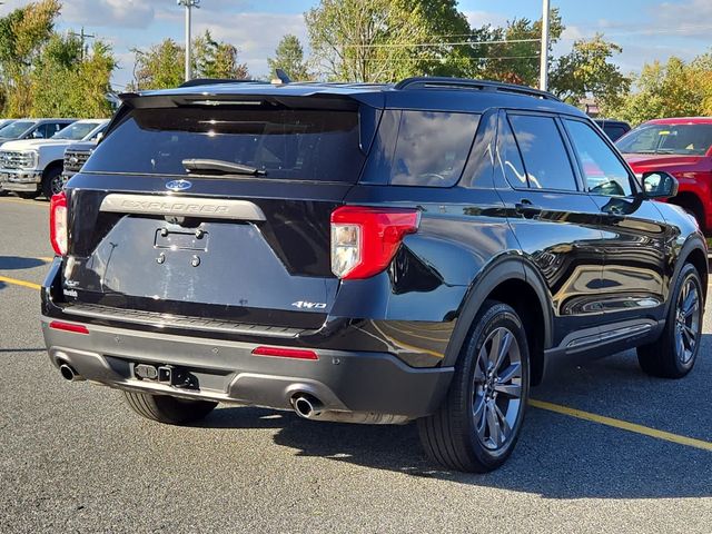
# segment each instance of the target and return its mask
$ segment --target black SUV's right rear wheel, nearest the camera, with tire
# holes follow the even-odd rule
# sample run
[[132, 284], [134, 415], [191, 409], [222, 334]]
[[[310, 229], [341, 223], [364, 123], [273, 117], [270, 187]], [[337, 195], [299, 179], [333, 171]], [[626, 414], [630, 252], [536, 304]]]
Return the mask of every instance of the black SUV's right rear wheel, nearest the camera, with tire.
[[[433, 461], [486, 473], [500, 467], [516, 445], [528, 400], [530, 357], [522, 320], [506, 304], [485, 301], [473, 325], [447, 397], [435, 414], [418, 419], [418, 432]], [[495, 368], [495, 346], [508, 348], [490, 375], [484, 370]]]

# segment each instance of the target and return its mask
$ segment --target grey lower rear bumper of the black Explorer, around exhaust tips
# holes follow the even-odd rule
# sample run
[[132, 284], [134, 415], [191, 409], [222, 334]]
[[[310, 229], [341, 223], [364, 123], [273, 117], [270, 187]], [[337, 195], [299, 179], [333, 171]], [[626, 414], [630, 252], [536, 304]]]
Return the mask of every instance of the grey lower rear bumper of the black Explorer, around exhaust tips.
[[[258, 345], [89, 325], [89, 334], [42, 333], [55, 366], [119, 389], [289, 409], [295, 394], [325, 409], [417, 418], [439, 406], [453, 368], [414, 368], [388, 353], [316, 349], [318, 360], [254, 356]], [[136, 364], [170, 365], [195, 378], [179, 388], [135, 376]]]

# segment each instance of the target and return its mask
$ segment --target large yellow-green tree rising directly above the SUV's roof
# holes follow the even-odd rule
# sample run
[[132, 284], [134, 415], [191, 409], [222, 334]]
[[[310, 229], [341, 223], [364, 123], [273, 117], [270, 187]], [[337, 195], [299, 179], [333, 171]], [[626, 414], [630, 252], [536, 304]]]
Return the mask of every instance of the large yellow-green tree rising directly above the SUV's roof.
[[471, 33], [454, 0], [322, 0], [305, 13], [317, 69], [328, 79], [395, 81], [458, 75]]

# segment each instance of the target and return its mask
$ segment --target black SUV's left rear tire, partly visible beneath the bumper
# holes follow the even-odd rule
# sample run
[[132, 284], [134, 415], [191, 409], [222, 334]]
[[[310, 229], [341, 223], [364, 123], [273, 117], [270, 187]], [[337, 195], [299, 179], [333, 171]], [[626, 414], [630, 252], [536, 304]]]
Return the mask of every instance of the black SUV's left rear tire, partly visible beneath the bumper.
[[187, 425], [205, 418], [218, 403], [190, 400], [169, 395], [123, 392], [134, 412], [147, 419], [167, 425]]

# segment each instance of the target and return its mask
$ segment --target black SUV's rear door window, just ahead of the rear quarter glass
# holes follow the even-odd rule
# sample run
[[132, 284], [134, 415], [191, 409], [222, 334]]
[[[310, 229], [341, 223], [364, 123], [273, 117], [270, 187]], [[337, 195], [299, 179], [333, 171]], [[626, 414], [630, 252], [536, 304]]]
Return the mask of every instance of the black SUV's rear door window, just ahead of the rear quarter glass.
[[510, 115], [532, 189], [575, 191], [576, 177], [558, 126], [552, 117]]

